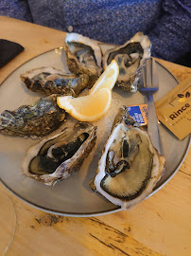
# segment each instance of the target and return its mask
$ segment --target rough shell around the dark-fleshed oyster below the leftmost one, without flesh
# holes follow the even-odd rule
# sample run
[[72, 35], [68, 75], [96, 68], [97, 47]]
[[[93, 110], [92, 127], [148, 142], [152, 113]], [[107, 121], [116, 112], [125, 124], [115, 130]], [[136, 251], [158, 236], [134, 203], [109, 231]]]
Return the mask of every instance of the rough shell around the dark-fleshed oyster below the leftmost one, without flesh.
[[92, 149], [96, 144], [96, 127], [87, 122], [78, 122], [76, 125], [68, 126], [68, 123], [65, 123], [62, 127], [62, 134], [67, 140], [68, 137], [74, 135], [78, 137], [80, 133], [88, 133], [89, 137], [83, 142], [79, 147], [75, 155], [72, 155], [71, 158], [63, 161], [61, 165], [54, 171], [52, 174], [31, 174], [29, 172], [30, 161], [38, 155], [39, 151], [43, 145], [57, 138], [61, 133], [56, 134], [51, 137], [43, 138], [39, 143], [29, 147], [26, 151], [26, 155], [22, 161], [22, 173], [26, 176], [29, 176], [35, 180], [43, 182], [45, 185], [55, 185], [58, 181], [61, 181], [64, 178], [69, 177], [71, 174], [75, 174], [79, 171], [84, 159], [90, 154]]

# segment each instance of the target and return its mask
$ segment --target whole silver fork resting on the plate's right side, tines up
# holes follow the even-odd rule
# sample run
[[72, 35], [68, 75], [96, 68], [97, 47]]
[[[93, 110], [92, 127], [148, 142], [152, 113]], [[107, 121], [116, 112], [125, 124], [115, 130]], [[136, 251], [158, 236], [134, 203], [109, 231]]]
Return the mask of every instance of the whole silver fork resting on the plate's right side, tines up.
[[152, 95], [159, 89], [157, 68], [154, 59], [148, 59], [143, 68], [143, 82], [140, 84], [139, 91], [148, 96], [148, 135], [154, 147], [160, 155], [163, 155], [163, 147], [159, 132], [158, 119]]

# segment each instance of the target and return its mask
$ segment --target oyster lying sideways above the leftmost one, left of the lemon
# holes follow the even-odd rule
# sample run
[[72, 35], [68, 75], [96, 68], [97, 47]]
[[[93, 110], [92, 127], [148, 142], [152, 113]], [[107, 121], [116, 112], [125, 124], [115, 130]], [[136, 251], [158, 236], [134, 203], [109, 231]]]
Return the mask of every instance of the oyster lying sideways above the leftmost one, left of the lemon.
[[89, 76], [63, 73], [54, 67], [41, 67], [22, 74], [21, 80], [33, 92], [46, 96], [61, 94], [76, 97], [88, 85]]

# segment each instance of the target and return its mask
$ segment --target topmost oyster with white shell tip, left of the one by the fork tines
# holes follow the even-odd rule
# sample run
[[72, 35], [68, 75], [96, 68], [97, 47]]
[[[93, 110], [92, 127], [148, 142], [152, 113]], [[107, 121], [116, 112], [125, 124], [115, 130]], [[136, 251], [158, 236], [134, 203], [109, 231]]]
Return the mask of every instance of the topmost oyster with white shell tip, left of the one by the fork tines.
[[102, 72], [101, 49], [95, 41], [78, 33], [68, 33], [63, 46], [72, 73], [85, 73], [95, 81]]

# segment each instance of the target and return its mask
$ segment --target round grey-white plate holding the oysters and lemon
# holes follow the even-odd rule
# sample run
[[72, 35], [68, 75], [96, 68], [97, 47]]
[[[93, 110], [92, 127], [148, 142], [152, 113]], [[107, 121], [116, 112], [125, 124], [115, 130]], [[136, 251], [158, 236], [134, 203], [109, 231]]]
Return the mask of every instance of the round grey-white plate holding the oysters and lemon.
[[[102, 46], [103, 50], [106, 47]], [[65, 54], [61, 48], [48, 51], [17, 68], [0, 86], [0, 113], [5, 109], [14, 110], [23, 104], [30, 104], [40, 95], [26, 89], [20, 80], [20, 74], [32, 68], [54, 66], [67, 70]], [[157, 63], [159, 74], [159, 91], [154, 95], [155, 101], [163, 97], [178, 82], [161, 64]], [[128, 94], [122, 89], [113, 89], [113, 103], [109, 113], [103, 119], [94, 122], [97, 125], [96, 147], [85, 159], [78, 174], [62, 180], [53, 187], [30, 179], [21, 174], [21, 161], [26, 149], [37, 141], [24, 137], [0, 135], [0, 180], [2, 184], [21, 200], [51, 213], [69, 216], [95, 216], [120, 210], [105, 198], [92, 192], [89, 181], [96, 174], [98, 159], [103, 145], [110, 134], [113, 119], [121, 105], [140, 104], [146, 100], [137, 92]], [[160, 127], [165, 153], [166, 173], [157, 183], [153, 192], [159, 190], [176, 173], [189, 148], [189, 137], [182, 141], [169, 132], [165, 126]], [[152, 193], [153, 193], [152, 192]]]

